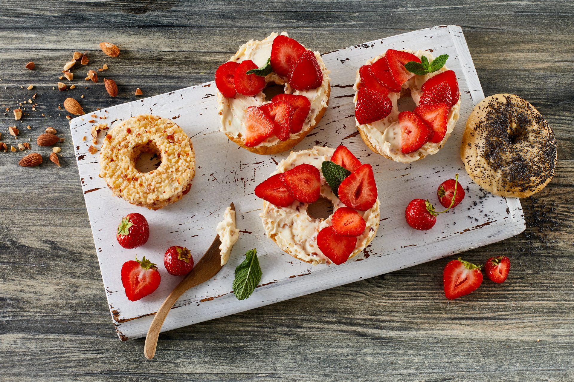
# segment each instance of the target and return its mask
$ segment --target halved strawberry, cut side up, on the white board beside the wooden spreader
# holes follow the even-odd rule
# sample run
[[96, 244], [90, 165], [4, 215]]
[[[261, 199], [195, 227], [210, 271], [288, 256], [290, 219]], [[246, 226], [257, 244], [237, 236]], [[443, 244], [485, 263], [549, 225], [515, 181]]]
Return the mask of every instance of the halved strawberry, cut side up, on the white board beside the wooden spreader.
[[157, 265], [145, 258], [126, 261], [122, 265], [122, 284], [126, 297], [137, 301], [153, 293], [160, 286], [161, 276]]

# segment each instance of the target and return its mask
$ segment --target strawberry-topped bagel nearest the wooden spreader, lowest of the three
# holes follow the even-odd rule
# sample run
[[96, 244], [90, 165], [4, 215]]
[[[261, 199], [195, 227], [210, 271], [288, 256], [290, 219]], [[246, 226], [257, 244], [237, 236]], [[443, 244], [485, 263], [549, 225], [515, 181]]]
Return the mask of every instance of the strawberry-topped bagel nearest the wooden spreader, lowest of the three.
[[[377, 185], [370, 164], [344, 146], [291, 152], [269, 179], [255, 187], [267, 237], [294, 258], [317, 265], [342, 264], [377, 233]], [[319, 198], [333, 204], [327, 219], [307, 213]]]

